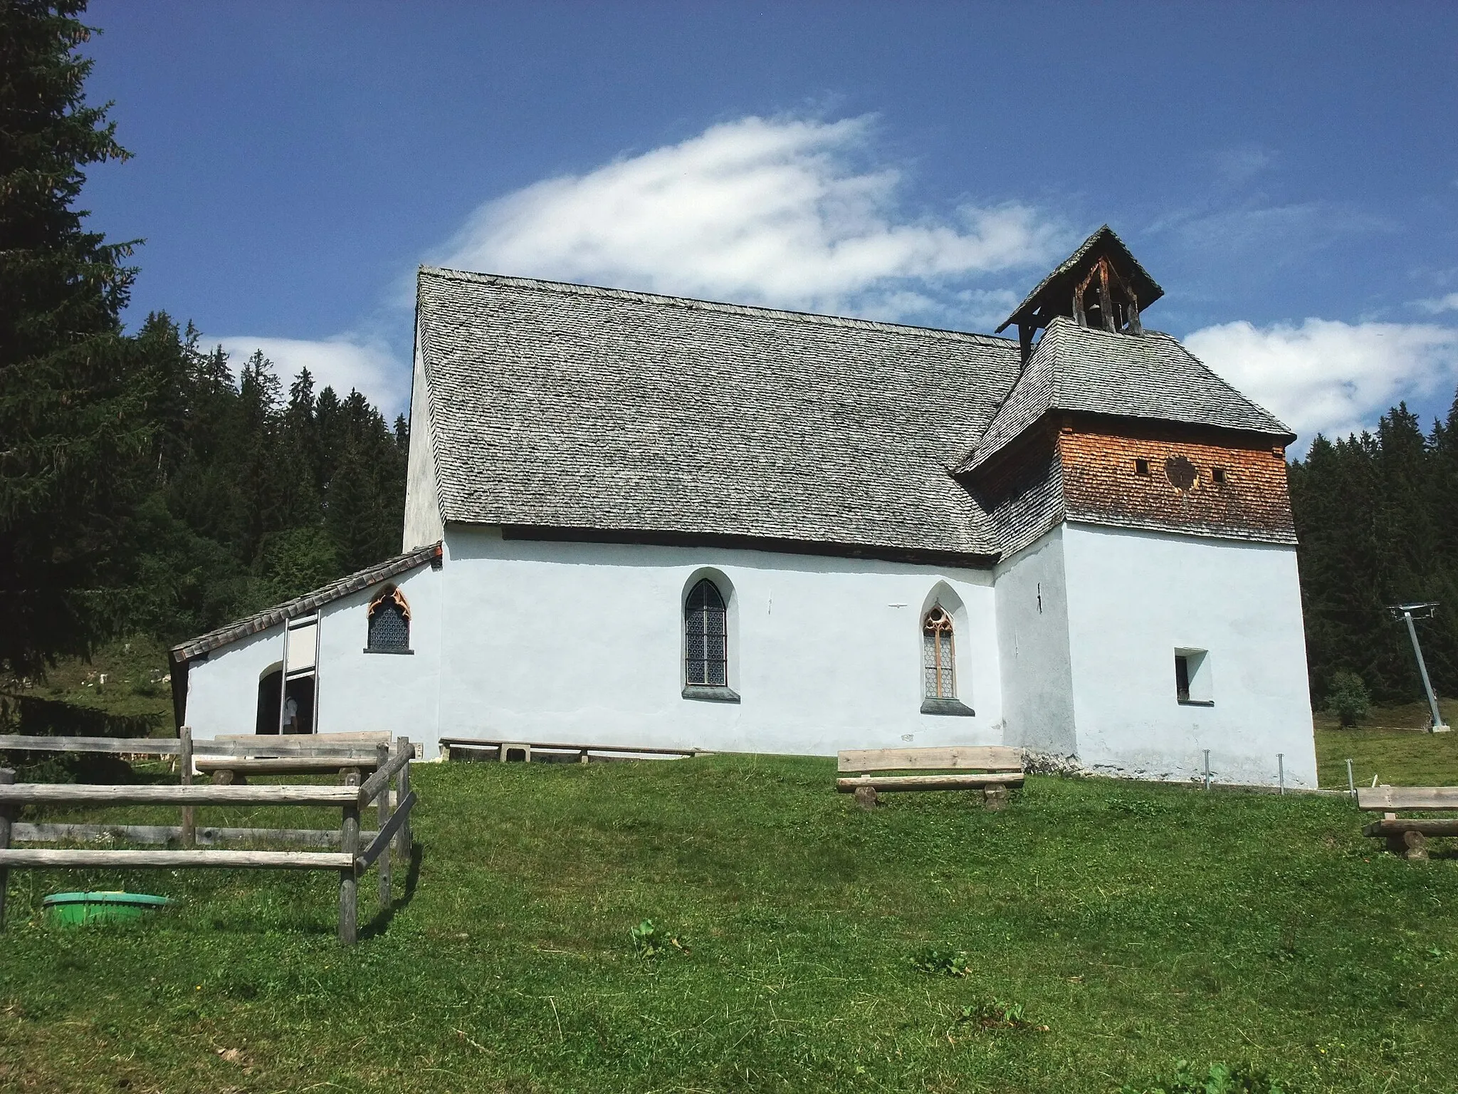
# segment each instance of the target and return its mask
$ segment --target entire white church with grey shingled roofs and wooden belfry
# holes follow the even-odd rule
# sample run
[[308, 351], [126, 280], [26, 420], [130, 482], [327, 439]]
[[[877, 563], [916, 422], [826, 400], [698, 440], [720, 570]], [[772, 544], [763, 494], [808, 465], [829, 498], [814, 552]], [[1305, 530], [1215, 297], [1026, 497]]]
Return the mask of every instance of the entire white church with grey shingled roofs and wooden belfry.
[[178, 645], [176, 718], [1315, 786], [1295, 438], [1161, 295], [1108, 228], [1016, 338], [423, 268], [404, 553]]

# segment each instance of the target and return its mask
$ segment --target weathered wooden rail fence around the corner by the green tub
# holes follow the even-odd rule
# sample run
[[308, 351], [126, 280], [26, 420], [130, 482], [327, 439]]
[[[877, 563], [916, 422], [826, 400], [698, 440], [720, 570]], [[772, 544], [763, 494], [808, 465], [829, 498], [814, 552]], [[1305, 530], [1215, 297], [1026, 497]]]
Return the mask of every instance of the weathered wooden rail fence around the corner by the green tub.
[[[179, 786], [82, 786], [70, 783], [16, 783], [15, 772], [0, 769], [0, 929], [4, 928], [4, 896], [9, 871], [15, 868], [112, 868], [112, 869], [332, 869], [340, 875], [340, 941], [353, 944], [359, 922], [359, 878], [372, 866], [379, 872], [379, 903], [391, 903], [391, 847], [397, 858], [410, 862], [413, 843], [410, 811], [416, 794], [410, 789], [410, 760], [414, 747], [407, 738], [373, 748], [359, 744], [322, 744], [318, 738], [265, 738], [255, 741], [197, 741], [184, 728], [178, 740], [147, 738], [61, 738], [0, 737], [0, 751], [105, 751], [121, 754], [178, 756], [182, 763]], [[194, 754], [257, 757], [260, 753], [318, 759], [338, 763], [341, 786], [194, 786]], [[375, 770], [362, 782], [364, 760]], [[391, 783], [394, 782], [394, 794]], [[19, 824], [16, 811], [28, 804], [67, 805], [178, 805], [182, 824], [168, 826], [77, 826]], [[338, 850], [197, 850], [194, 810], [198, 805], [332, 805], [341, 811], [337, 833]], [[360, 831], [360, 814], [375, 805], [378, 829]], [[308, 829], [223, 829], [233, 839], [278, 843], [335, 843], [335, 833], [324, 839]], [[146, 833], [146, 836], [143, 836]], [[175, 834], [174, 834], [175, 833]], [[178, 839], [179, 849], [90, 850], [23, 849], [16, 842], [58, 842], [118, 834], [133, 842]], [[139, 836], [141, 836], [139, 839]], [[217, 842], [216, 839], [208, 842]]]

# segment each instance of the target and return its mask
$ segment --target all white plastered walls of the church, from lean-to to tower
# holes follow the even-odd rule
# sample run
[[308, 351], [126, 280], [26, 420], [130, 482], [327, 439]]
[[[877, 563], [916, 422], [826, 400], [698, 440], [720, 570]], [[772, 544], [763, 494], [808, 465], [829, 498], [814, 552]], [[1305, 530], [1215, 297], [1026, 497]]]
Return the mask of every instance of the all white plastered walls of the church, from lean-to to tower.
[[[1066, 524], [994, 575], [709, 547], [503, 540], [452, 527], [439, 572], [397, 581], [413, 655], [364, 653], [379, 586], [325, 605], [318, 729], [423, 740], [833, 754], [1019, 744], [1110, 775], [1315, 785], [1295, 550]], [[729, 598], [739, 703], [682, 697], [682, 598]], [[958, 699], [923, 715], [921, 608], [955, 594]], [[1209, 651], [1213, 705], [1177, 702]], [[252, 732], [281, 627], [191, 667], [198, 737]]]

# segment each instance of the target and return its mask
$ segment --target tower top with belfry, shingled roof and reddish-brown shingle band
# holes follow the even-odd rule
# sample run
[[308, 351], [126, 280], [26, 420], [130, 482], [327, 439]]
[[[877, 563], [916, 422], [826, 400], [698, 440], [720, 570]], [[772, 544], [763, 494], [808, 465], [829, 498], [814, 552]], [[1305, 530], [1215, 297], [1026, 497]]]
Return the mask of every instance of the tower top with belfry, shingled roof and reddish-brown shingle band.
[[1105, 225], [999, 327], [1018, 327], [1022, 366], [954, 474], [1009, 550], [1064, 519], [1295, 543], [1284, 461], [1295, 435], [1145, 328], [1161, 296]]

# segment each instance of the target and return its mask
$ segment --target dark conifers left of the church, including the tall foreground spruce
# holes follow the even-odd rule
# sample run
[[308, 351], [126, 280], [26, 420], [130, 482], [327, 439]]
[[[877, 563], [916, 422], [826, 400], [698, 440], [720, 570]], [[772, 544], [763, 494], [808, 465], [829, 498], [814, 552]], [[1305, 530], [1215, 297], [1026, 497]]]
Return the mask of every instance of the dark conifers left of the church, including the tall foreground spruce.
[[[79, 209], [125, 160], [85, 3], [0, 4], [0, 668], [195, 635], [399, 550], [405, 422], [124, 314], [141, 241]], [[136, 318], [131, 317], [136, 322]], [[284, 387], [287, 384], [287, 388]]]

